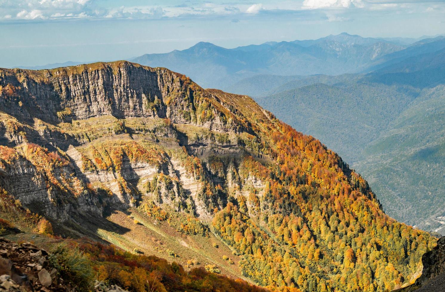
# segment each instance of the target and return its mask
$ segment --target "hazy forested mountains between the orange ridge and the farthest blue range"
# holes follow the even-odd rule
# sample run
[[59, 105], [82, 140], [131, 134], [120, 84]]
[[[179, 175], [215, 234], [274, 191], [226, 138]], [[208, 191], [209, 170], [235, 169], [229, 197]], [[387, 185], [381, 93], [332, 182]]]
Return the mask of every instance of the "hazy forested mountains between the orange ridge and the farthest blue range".
[[376, 62], [382, 63], [370, 73], [253, 76], [226, 90], [255, 96], [339, 152], [369, 180], [390, 216], [444, 233], [445, 38]]

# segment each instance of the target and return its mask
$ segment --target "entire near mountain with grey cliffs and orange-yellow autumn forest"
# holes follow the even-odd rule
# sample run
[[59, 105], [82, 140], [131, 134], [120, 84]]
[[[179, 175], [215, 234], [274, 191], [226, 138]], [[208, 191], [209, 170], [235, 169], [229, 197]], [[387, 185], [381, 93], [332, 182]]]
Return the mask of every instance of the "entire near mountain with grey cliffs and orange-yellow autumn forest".
[[0, 84], [5, 202], [58, 234], [303, 291], [407, 285], [435, 243], [248, 96], [124, 61]]

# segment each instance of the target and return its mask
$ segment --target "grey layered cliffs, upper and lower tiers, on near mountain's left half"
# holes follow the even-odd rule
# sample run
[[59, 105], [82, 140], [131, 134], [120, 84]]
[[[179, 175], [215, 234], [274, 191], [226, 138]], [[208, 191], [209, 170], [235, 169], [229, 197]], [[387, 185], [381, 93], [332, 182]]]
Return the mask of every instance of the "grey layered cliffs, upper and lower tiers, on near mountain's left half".
[[[106, 166], [93, 163], [85, 170], [85, 154], [97, 151], [93, 144], [98, 140], [96, 127], [104, 121], [101, 117], [112, 119], [112, 124], [101, 129], [105, 136], [132, 140], [136, 135], [154, 142], [161, 138], [168, 140], [169, 146], [173, 141], [176, 147], [179, 141], [186, 151], [201, 156], [234, 151], [242, 154], [243, 150], [235, 149], [242, 142], [235, 137], [229, 139], [229, 134], [253, 133], [239, 109], [186, 76], [124, 61], [41, 71], [0, 69], [0, 96], [1, 144], [20, 146], [22, 150], [2, 149], [2, 187], [32, 211], [63, 220], [73, 212], [100, 215], [105, 206], [134, 206], [135, 200], [146, 193], [141, 185], [158, 173], [173, 176], [172, 184], [180, 180], [190, 186], [185, 190], [164, 186], [156, 193], [158, 202], [178, 210], [188, 206], [210, 218], [210, 207], [198, 199], [203, 185], [186, 174], [181, 163], [170, 161], [157, 150], [162, 161], [156, 164], [130, 160], [123, 153], [119, 168], [112, 161]], [[135, 121], [138, 125], [153, 121], [161, 121], [161, 125], [151, 129], [126, 127], [125, 119], [131, 118], [139, 119]], [[88, 121], [83, 123], [85, 132], [79, 123], [82, 120]], [[192, 126], [198, 128], [192, 129], [194, 135], [187, 135], [173, 124], [184, 124], [187, 131]], [[203, 129], [205, 135], [199, 133]], [[221, 136], [217, 143], [215, 135]], [[99, 156], [91, 159], [110, 159], [107, 150]], [[42, 162], [47, 165], [42, 166]], [[110, 196], [97, 197], [93, 190]], [[191, 199], [184, 192], [191, 194]], [[210, 205], [221, 205], [218, 200], [212, 199]]]

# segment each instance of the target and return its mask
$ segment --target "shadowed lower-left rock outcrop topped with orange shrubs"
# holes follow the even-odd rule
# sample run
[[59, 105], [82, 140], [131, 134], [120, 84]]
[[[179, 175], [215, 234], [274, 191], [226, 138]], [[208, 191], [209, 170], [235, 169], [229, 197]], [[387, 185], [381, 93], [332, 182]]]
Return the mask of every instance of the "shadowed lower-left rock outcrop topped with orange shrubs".
[[61, 220], [82, 212], [101, 215], [101, 204], [86, 191], [81, 180], [74, 177], [75, 170], [70, 164], [60, 164], [49, 173], [32, 161], [36, 163], [33, 158], [27, 159], [17, 152], [8, 162], [0, 161], [0, 185], [21, 204], [32, 212]]

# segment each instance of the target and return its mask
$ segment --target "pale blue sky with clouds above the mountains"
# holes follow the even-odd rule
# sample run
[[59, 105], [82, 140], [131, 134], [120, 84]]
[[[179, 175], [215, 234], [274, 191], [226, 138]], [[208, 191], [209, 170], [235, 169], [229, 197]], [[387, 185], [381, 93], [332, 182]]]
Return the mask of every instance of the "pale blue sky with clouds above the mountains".
[[445, 0], [0, 0], [0, 67], [129, 60], [200, 41], [445, 33]]

